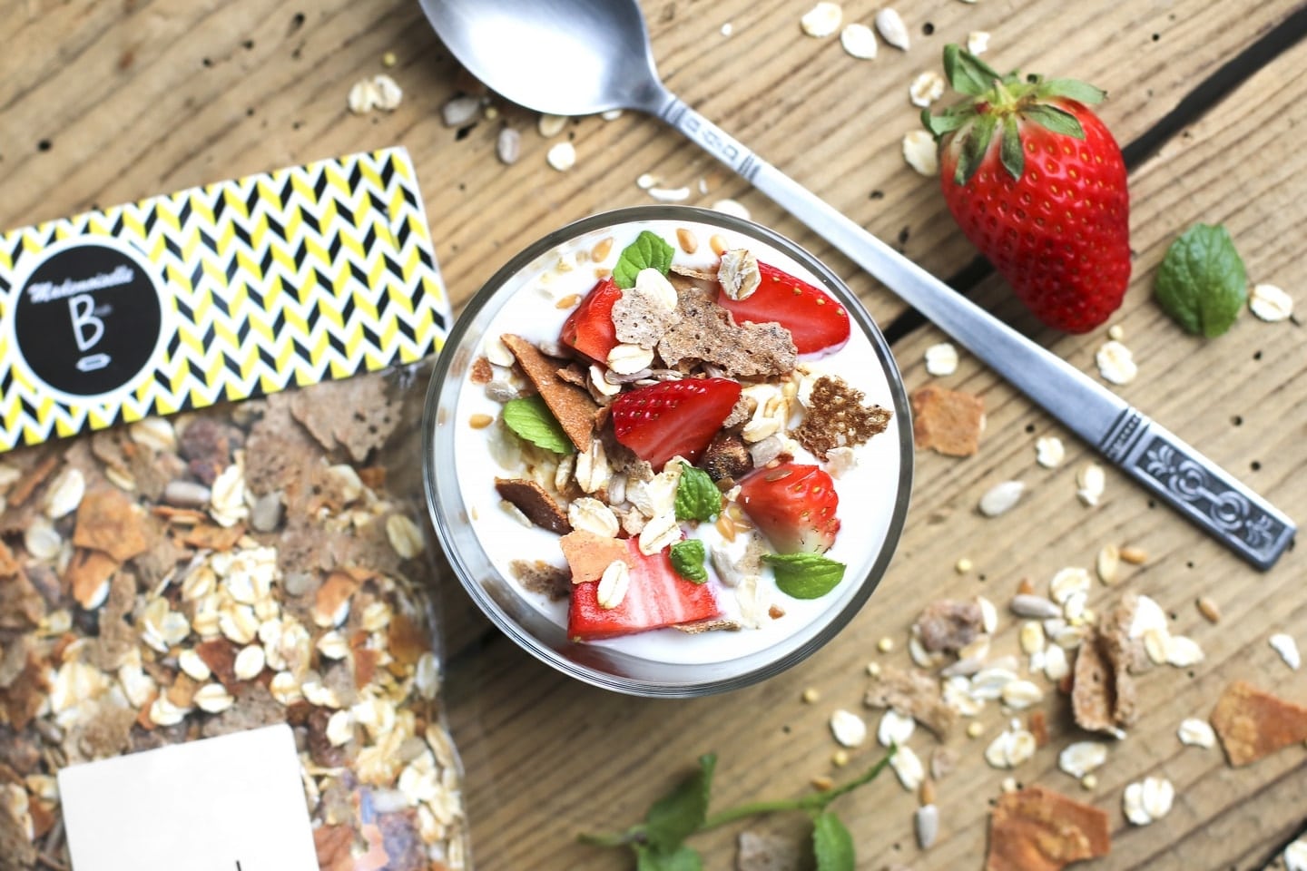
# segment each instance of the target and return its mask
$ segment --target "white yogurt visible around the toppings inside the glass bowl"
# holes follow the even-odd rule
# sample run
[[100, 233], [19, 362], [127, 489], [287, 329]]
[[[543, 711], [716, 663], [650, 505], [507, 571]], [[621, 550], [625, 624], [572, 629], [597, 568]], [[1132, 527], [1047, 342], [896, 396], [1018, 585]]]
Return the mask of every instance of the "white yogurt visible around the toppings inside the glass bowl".
[[[676, 244], [678, 229], [689, 229], [697, 236], [699, 248], [694, 255], [686, 255]], [[485, 345], [476, 355], [488, 355], [489, 351], [491, 360], [497, 356], [495, 350], [502, 355], [502, 349], [494, 349], [490, 343], [505, 333], [515, 333], [535, 342], [555, 341], [571, 312], [571, 307], [559, 308], [559, 300], [567, 300], [570, 296], [579, 300], [589, 293], [597, 282], [595, 270], [612, 269], [622, 248], [642, 230], [651, 230], [670, 243], [676, 251], [673, 262], [677, 265], [715, 269], [718, 257], [711, 251], [708, 239], [720, 235], [729, 248], [748, 248], [759, 261], [783, 269], [817, 287], [823, 286], [821, 279], [800, 262], [752, 236], [685, 221], [627, 223], [578, 236], [514, 276], [488, 306], [486, 313], [491, 316], [491, 321], [485, 332]], [[609, 236], [613, 238], [613, 245], [608, 256], [600, 262], [591, 261], [589, 252], [596, 243]], [[490, 311], [495, 306], [498, 311]], [[889, 379], [880, 358], [868, 337], [857, 329], [856, 320], [852, 321], [852, 336], [842, 349], [825, 356], [814, 355], [804, 362], [814, 370], [839, 375], [863, 390], [869, 402], [894, 409]], [[506, 370], [497, 368], [497, 376], [505, 373]], [[521, 477], [523, 471], [520, 456], [514, 449], [515, 436], [507, 434], [498, 422], [501, 410], [502, 405], [486, 396], [484, 385], [468, 380], [463, 383], [455, 411], [454, 465], [467, 516], [472, 520], [477, 538], [499, 573], [516, 586], [510, 569], [514, 560], [544, 560], [563, 568], [567, 563], [558, 546], [557, 534], [536, 526], [524, 526], [501, 505], [494, 479]], [[488, 428], [474, 428], [471, 423], [473, 415], [490, 415], [497, 422]], [[855, 448], [856, 465], [835, 475], [835, 490], [839, 494], [836, 516], [842, 525], [835, 545], [826, 556], [846, 564], [844, 578], [835, 590], [819, 599], [795, 599], [776, 589], [771, 569], [765, 567], [762, 576], [765, 599], [783, 610], [784, 615], [779, 619], [765, 618], [761, 628], [699, 635], [686, 635], [677, 629], [654, 629], [591, 644], [610, 646], [656, 662], [708, 663], [725, 662], [774, 646], [792, 646], [796, 636], [810, 635], [818, 624], [843, 610], [880, 555], [898, 498], [899, 424], [895, 417], [885, 432]], [[491, 439], [495, 441], [495, 449], [491, 449]], [[822, 464], [802, 449], [795, 454], [795, 461], [833, 469], [833, 464]], [[690, 530], [690, 525], [686, 524], [685, 529]], [[699, 524], [690, 534], [703, 539], [710, 554], [712, 545], [720, 541], [720, 534], [711, 522]], [[723, 616], [738, 615], [736, 592], [720, 581], [711, 560], [708, 560], [708, 584]], [[520, 588], [518, 592], [540, 614], [566, 628], [566, 601], [550, 602], [542, 594]], [[766, 610], [763, 606], [765, 612]], [[786, 644], [787, 641], [791, 644]]]

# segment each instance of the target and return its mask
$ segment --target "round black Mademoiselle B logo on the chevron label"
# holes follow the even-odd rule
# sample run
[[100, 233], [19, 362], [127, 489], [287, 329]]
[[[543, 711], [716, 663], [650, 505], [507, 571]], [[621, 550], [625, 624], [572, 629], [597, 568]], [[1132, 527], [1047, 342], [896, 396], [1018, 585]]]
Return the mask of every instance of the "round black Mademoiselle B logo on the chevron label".
[[162, 321], [158, 290], [140, 260], [78, 240], [51, 253], [18, 289], [14, 338], [33, 375], [89, 397], [145, 368]]

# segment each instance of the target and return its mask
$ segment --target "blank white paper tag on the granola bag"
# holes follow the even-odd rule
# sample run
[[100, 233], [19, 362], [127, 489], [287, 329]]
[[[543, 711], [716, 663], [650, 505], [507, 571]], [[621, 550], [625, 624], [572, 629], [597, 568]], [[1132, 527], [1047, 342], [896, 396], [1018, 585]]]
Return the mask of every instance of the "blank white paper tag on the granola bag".
[[59, 772], [74, 871], [318, 871], [290, 726]]

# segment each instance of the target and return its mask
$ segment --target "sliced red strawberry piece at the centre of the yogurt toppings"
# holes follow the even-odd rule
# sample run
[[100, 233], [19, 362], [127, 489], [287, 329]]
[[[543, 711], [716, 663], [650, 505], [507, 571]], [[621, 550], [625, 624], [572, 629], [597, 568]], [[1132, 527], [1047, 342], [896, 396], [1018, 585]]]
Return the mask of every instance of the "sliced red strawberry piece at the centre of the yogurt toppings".
[[677, 454], [694, 462], [738, 398], [729, 379], [659, 381], [613, 401], [613, 434], [654, 469]]

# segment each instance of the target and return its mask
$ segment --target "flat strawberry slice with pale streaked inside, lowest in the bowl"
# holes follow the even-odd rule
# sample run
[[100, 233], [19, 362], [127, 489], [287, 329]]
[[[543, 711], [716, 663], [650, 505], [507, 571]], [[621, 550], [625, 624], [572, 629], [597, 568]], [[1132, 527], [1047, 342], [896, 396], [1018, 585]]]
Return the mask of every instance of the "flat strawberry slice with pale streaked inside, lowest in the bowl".
[[567, 637], [574, 641], [612, 639], [721, 614], [711, 585], [694, 584], [677, 575], [668, 548], [646, 556], [639, 541], [627, 538], [626, 552], [631, 582], [617, 607], [599, 607], [599, 581], [572, 584]]

